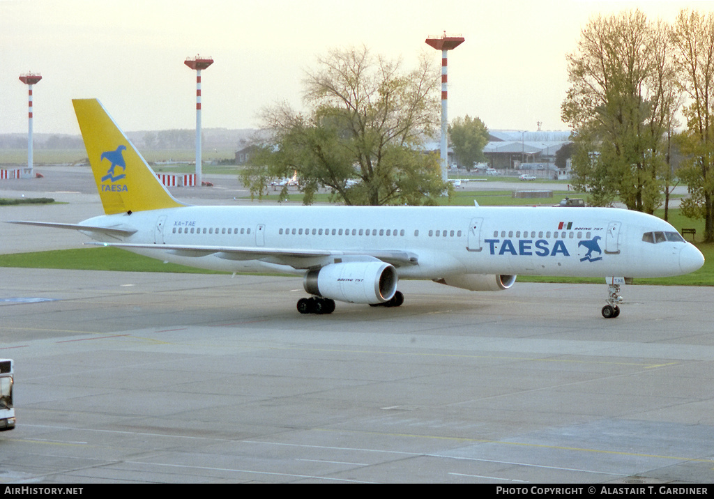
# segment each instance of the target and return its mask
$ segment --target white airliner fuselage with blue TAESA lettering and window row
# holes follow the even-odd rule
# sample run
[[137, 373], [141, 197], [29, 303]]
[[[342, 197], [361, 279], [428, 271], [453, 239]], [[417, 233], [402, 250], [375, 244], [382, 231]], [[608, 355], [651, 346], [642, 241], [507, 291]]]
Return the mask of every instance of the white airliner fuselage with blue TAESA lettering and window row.
[[[618, 208], [186, 206], [99, 216], [83, 224], [134, 229], [119, 239], [93, 237], [144, 245], [128, 249], [222, 271], [304, 273], [333, 263], [338, 253], [380, 251], [413, 256], [395, 266], [400, 278], [414, 279], [657, 277], [688, 273], [703, 263], [683, 240], [643, 238], [676, 233], [670, 224]], [[256, 251], [236, 256], [221, 248]]]

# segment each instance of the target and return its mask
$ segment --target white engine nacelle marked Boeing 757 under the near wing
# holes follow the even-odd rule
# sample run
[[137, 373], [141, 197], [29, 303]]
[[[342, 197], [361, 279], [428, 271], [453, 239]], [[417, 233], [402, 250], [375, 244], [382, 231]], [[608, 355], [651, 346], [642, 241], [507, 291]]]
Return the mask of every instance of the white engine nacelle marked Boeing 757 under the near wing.
[[384, 303], [397, 290], [397, 271], [384, 262], [331, 263], [305, 274], [303, 286], [313, 295], [349, 303]]

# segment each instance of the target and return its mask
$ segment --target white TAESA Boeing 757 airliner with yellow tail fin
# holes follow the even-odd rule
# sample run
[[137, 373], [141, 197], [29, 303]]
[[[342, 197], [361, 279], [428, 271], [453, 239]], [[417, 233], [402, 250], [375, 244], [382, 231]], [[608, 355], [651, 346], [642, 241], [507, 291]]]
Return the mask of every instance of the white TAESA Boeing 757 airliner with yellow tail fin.
[[332, 313], [335, 301], [401, 306], [400, 279], [503, 291], [526, 274], [605, 278], [601, 313], [614, 318], [625, 278], [677, 276], [704, 263], [669, 223], [619, 208], [187, 206], [99, 101], [73, 104], [105, 214], [12, 223], [74, 229], [97, 245], [198, 268], [303, 276], [310, 296], [299, 313]]

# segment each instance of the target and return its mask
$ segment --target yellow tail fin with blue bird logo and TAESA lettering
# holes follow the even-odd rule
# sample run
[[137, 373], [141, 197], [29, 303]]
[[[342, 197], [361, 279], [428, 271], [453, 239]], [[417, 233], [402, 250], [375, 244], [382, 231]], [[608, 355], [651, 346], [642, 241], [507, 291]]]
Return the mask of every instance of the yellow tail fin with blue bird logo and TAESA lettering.
[[183, 206], [159, 182], [99, 101], [74, 99], [72, 104], [104, 213]]

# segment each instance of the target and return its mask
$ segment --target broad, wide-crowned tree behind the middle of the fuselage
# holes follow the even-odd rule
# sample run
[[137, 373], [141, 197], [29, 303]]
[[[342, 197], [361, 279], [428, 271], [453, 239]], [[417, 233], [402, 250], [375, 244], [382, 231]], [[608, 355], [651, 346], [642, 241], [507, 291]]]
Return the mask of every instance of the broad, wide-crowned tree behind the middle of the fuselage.
[[438, 156], [421, 151], [439, 118], [438, 71], [426, 54], [405, 72], [366, 47], [335, 49], [304, 87], [306, 114], [284, 103], [263, 111], [271, 138], [243, 172], [253, 196], [293, 173], [306, 204], [321, 187], [348, 205], [433, 204], [448, 188]]

